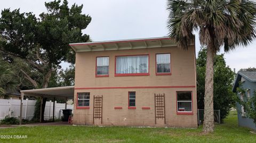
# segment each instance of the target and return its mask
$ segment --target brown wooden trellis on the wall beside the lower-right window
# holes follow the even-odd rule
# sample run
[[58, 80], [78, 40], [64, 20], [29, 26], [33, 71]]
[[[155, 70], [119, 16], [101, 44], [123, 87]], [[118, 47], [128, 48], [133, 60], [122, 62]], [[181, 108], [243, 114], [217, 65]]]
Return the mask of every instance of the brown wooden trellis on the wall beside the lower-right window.
[[155, 94], [155, 123], [156, 123], [156, 119], [164, 119], [164, 124], [165, 124], [164, 94]]

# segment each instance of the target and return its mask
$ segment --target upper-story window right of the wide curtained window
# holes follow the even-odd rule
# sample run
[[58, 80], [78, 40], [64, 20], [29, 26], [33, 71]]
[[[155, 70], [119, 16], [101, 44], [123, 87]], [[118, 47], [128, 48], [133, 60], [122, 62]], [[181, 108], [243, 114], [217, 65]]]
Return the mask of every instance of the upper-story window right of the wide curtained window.
[[171, 74], [171, 54], [156, 54], [156, 74]]

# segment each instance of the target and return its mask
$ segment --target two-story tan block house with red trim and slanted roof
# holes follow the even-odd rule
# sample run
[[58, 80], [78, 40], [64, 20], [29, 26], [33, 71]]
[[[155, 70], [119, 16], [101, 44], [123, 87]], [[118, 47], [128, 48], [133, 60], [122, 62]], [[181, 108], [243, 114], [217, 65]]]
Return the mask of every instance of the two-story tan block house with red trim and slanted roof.
[[75, 43], [75, 125], [197, 128], [195, 45], [167, 37]]

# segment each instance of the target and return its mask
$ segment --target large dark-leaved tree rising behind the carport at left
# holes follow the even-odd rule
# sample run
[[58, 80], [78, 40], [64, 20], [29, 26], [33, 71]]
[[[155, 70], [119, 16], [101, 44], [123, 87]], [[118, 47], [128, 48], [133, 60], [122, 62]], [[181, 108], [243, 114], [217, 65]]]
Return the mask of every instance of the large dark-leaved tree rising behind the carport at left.
[[[91, 17], [82, 14], [83, 5], [68, 6], [67, 0], [45, 3], [46, 13], [39, 18], [20, 10], [4, 9], [0, 18], [0, 51], [12, 57], [18, 57], [28, 67], [20, 68], [34, 88], [47, 88], [51, 74], [60, 68], [61, 61], [69, 61], [68, 55], [74, 55], [69, 43], [86, 42], [89, 35], [83, 34], [91, 22]], [[74, 58], [71, 58], [74, 61]], [[33, 77], [33, 73], [41, 74]], [[38, 79], [39, 78], [39, 79]], [[46, 98], [43, 99], [43, 112]], [[42, 119], [43, 120], [43, 119]]]

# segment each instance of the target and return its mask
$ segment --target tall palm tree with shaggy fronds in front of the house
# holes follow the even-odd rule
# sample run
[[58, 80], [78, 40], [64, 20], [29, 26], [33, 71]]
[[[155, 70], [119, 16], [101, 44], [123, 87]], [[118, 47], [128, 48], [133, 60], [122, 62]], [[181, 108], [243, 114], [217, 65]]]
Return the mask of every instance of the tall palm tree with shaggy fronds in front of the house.
[[195, 30], [199, 30], [201, 45], [207, 47], [203, 131], [213, 132], [214, 55], [222, 47], [228, 52], [246, 46], [256, 37], [256, 4], [247, 0], [168, 0], [167, 10], [169, 36], [178, 47], [187, 49]]

